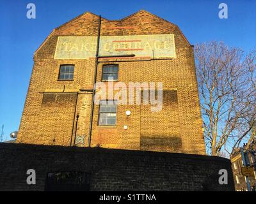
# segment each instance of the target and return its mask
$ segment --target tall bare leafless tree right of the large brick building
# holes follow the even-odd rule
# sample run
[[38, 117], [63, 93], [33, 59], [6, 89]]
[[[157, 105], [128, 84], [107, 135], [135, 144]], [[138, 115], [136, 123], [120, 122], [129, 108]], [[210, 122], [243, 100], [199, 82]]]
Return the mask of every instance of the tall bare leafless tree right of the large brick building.
[[256, 52], [216, 41], [195, 47], [205, 143], [212, 156], [252, 140], [256, 123]]

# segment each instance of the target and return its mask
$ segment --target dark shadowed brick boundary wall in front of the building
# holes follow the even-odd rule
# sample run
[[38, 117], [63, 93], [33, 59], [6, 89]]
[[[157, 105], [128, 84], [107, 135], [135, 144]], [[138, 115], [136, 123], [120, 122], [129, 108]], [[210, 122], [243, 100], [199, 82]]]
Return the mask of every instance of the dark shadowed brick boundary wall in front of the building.
[[[85, 171], [90, 191], [234, 191], [230, 161], [222, 157], [138, 150], [0, 143], [0, 191], [44, 191], [47, 173]], [[220, 185], [220, 169], [228, 185]], [[36, 171], [36, 185], [26, 171]]]

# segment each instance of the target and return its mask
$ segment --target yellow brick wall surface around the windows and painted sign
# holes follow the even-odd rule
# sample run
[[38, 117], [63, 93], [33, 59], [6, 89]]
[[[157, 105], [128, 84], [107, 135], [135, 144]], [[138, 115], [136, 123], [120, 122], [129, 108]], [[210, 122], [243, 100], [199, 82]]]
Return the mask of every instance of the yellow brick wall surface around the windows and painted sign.
[[[56, 60], [54, 52], [58, 36], [97, 36], [98, 18], [92, 13], [84, 13], [54, 29], [36, 50], [18, 143], [70, 145], [74, 142], [70, 141], [71, 138], [74, 140], [74, 116], [79, 113], [77, 135], [86, 135], [86, 143], [80, 146], [88, 145], [92, 94], [80, 92], [79, 89], [92, 89], [95, 59]], [[125, 84], [163, 82], [167, 93], [163, 110], [152, 113], [148, 105], [118, 105], [116, 127], [102, 128], [97, 126], [99, 106], [95, 105], [92, 147], [100, 145], [117, 149], [205, 154], [193, 47], [179, 27], [147, 11], [139, 11], [122, 20], [102, 18], [101, 36], [140, 34], [174, 34], [177, 58], [111, 63], [119, 65], [118, 81]], [[109, 63], [108, 59], [100, 61], [104, 62], [98, 66], [98, 82], [101, 80], [102, 65]], [[74, 80], [58, 80], [61, 64], [75, 65]], [[50, 97], [50, 102], [47, 102], [46, 97], [44, 103], [47, 92], [62, 93], [52, 93], [54, 99]], [[69, 94], [68, 99], [63, 99], [61, 94]], [[126, 110], [131, 110], [131, 116], [125, 115]], [[127, 130], [124, 125], [128, 126]]]

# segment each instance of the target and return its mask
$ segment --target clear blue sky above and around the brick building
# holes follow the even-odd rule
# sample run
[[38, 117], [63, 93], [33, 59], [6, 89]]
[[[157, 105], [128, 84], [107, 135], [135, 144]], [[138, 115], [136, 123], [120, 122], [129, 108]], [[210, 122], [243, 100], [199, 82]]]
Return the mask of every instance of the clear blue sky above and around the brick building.
[[[28, 3], [36, 5], [36, 19], [26, 18]], [[228, 5], [228, 19], [218, 18], [218, 5]], [[246, 52], [256, 46], [255, 0], [1, 0], [0, 1], [0, 126], [9, 140], [19, 129], [28, 90], [33, 52], [52, 29], [85, 11], [110, 20], [147, 10], [174, 24], [193, 45], [204, 41], [224, 41]], [[1, 127], [0, 127], [1, 128]]]

